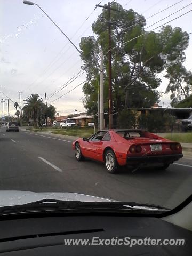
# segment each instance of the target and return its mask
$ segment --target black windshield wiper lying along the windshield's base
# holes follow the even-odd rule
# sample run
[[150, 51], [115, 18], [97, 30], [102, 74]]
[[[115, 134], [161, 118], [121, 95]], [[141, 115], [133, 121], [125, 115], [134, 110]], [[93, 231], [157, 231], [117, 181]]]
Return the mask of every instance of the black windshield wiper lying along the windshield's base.
[[39, 201], [0, 207], [0, 215], [23, 213], [23, 212], [41, 212], [51, 210], [142, 210], [142, 211], [170, 211], [165, 207], [151, 204], [139, 204], [135, 202], [81, 202], [81, 201], [63, 201], [58, 199], [42, 199]]

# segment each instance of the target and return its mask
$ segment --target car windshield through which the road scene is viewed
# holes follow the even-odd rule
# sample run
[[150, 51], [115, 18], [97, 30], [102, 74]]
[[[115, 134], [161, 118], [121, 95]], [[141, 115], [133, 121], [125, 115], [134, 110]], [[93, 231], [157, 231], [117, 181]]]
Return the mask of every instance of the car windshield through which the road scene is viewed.
[[191, 195], [190, 2], [0, 1], [0, 207]]

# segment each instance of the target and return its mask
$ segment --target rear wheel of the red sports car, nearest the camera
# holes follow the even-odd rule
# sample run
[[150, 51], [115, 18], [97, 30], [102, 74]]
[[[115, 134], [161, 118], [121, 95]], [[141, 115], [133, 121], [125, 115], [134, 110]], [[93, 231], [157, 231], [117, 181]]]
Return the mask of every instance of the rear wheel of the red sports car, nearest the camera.
[[105, 153], [105, 166], [109, 173], [116, 173], [118, 170], [118, 163], [113, 150], [109, 149]]

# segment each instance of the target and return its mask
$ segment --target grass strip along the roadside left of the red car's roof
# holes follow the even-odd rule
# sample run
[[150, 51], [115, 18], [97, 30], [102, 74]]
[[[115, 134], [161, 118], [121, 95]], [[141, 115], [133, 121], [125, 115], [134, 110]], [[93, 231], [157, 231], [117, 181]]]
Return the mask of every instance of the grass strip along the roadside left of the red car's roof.
[[90, 137], [94, 133], [93, 128], [68, 128], [68, 129], [60, 129], [57, 131], [52, 131], [53, 134], [62, 134], [68, 136], [76, 136], [76, 137]]

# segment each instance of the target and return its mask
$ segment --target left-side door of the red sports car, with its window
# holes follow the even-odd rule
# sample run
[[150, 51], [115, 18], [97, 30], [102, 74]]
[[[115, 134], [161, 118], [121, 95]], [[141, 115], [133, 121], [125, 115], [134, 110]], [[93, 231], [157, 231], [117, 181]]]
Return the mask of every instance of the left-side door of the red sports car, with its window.
[[82, 148], [82, 153], [84, 153], [83, 155], [85, 157], [102, 161], [102, 145], [103, 145], [102, 138], [105, 134], [106, 134], [106, 131], [97, 132], [89, 139], [89, 141], [84, 143]]

